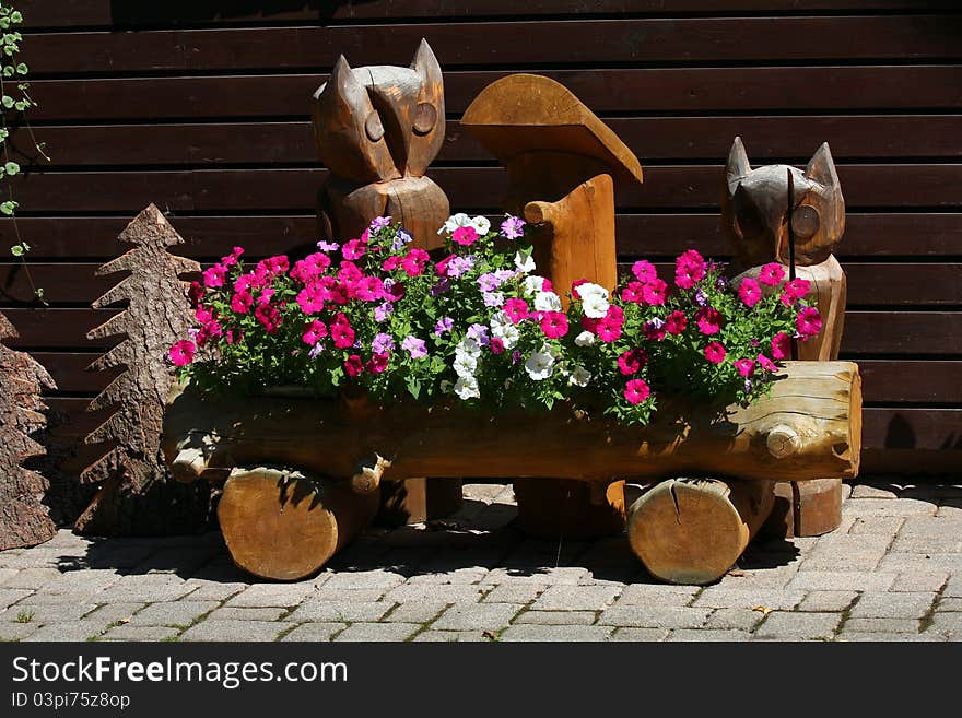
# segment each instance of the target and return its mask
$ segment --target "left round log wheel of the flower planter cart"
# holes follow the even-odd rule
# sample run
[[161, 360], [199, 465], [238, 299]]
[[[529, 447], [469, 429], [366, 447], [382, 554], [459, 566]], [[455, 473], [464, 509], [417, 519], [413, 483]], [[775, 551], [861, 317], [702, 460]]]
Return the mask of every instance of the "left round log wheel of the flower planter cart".
[[374, 518], [377, 491], [352, 492], [298, 471], [235, 469], [218, 517], [234, 563], [260, 578], [297, 580], [320, 569]]

